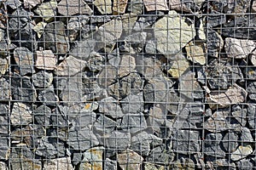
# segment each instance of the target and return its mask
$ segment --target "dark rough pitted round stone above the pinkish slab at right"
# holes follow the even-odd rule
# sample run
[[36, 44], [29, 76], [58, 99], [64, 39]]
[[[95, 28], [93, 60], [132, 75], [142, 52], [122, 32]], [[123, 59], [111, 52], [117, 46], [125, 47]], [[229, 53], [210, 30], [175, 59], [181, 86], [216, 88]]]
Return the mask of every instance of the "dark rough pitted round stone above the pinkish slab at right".
[[236, 63], [230, 60], [214, 59], [207, 67], [207, 82], [211, 89], [227, 89], [236, 81], [243, 81], [243, 75]]

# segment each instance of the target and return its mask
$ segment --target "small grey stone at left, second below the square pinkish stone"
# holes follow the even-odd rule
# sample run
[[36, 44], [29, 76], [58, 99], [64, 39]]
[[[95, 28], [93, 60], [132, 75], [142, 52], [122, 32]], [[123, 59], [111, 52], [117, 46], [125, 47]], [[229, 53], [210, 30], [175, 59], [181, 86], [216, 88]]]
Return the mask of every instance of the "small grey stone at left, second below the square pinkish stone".
[[38, 100], [44, 103], [44, 105], [56, 105], [59, 98], [55, 94], [54, 88], [51, 86], [38, 93]]

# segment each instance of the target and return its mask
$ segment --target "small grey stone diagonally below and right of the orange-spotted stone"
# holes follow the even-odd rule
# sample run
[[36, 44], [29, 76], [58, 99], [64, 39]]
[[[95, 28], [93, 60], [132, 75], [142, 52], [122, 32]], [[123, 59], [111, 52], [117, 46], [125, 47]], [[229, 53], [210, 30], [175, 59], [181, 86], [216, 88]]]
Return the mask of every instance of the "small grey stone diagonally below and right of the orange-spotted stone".
[[93, 126], [101, 133], [111, 133], [117, 127], [117, 123], [107, 116], [100, 115]]

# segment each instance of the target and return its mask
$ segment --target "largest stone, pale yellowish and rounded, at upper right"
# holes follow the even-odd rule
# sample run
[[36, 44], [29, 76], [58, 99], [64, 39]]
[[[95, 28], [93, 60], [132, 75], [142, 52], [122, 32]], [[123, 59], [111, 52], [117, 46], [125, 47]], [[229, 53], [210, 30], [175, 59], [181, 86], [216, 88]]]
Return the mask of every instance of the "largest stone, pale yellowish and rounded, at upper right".
[[189, 26], [184, 18], [172, 10], [155, 22], [154, 37], [157, 40], [157, 50], [169, 59], [195, 37], [195, 27]]

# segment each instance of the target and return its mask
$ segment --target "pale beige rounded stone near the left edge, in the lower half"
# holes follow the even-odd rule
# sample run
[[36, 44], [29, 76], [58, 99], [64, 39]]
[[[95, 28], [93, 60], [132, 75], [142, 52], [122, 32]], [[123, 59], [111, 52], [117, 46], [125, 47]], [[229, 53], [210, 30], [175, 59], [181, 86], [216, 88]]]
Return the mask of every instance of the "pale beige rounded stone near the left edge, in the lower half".
[[32, 122], [32, 111], [28, 105], [15, 102], [11, 111], [10, 121], [13, 126], [27, 125]]

